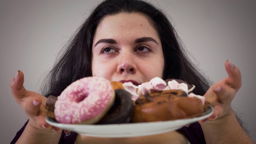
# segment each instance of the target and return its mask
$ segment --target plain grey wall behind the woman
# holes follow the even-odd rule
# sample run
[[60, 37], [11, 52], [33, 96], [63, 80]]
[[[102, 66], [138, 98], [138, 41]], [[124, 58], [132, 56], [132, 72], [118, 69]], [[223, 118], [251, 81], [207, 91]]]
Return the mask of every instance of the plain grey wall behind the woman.
[[[227, 76], [231, 60], [242, 72], [232, 107], [256, 142], [256, 1], [154, 0], [166, 11], [202, 72], [213, 82]], [[0, 0], [0, 139], [10, 143], [27, 120], [10, 81], [24, 72], [27, 90], [40, 84], [62, 46], [98, 2], [94, 0]]]

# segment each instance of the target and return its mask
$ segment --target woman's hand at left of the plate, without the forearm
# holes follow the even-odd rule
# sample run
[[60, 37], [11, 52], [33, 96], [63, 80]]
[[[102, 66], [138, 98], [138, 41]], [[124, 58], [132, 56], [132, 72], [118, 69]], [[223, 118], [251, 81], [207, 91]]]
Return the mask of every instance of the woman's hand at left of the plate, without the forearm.
[[10, 82], [10, 88], [15, 101], [28, 115], [30, 126], [36, 131], [53, 132], [61, 129], [49, 125], [45, 121], [47, 98], [36, 92], [28, 91], [23, 86], [24, 74], [19, 70]]

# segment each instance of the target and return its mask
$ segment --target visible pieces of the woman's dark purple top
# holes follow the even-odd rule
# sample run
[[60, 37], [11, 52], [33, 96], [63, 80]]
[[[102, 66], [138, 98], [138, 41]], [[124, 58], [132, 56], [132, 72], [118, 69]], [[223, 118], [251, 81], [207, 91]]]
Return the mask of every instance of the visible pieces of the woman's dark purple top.
[[[20, 138], [20, 135], [24, 131], [28, 121], [24, 124], [24, 126], [16, 133], [16, 136], [12, 140], [11, 144], [15, 144], [17, 140]], [[190, 124], [189, 127], [183, 127], [177, 130], [178, 132], [184, 134], [186, 138], [190, 141], [191, 144], [206, 144], [204, 140], [204, 133], [202, 128], [198, 122], [194, 124]], [[75, 132], [71, 132], [70, 135], [66, 135], [63, 131], [60, 137], [59, 144], [74, 144], [76, 141], [77, 134]]]

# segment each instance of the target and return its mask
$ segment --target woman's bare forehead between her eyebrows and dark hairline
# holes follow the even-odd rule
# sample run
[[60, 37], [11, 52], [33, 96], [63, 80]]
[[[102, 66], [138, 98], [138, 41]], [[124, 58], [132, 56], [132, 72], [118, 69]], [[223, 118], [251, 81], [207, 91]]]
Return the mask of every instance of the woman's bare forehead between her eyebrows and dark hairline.
[[139, 13], [119, 13], [104, 17], [98, 24], [94, 41], [102, 38], [153, 37], [160, 42], [158, 32], [149, 18]]

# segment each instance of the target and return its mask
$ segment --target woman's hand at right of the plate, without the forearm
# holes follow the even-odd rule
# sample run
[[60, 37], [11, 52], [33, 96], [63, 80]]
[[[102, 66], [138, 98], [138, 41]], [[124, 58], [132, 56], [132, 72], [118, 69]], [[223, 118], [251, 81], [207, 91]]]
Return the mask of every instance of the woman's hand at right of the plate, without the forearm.
[[[210, 102], [214, 107], [214, 113], [206, 120], [215, 120], [230, 114], [232, 112], [230, 104], [242, 85], [242, 76], [239, 68], [234, 66], [229, 60], [226, 60], [225, 68], [228, 77], [211, 86], [206, 94], [204, 94], [206, 101]], [[199, 122], [202, 123], [206, 120]]]

